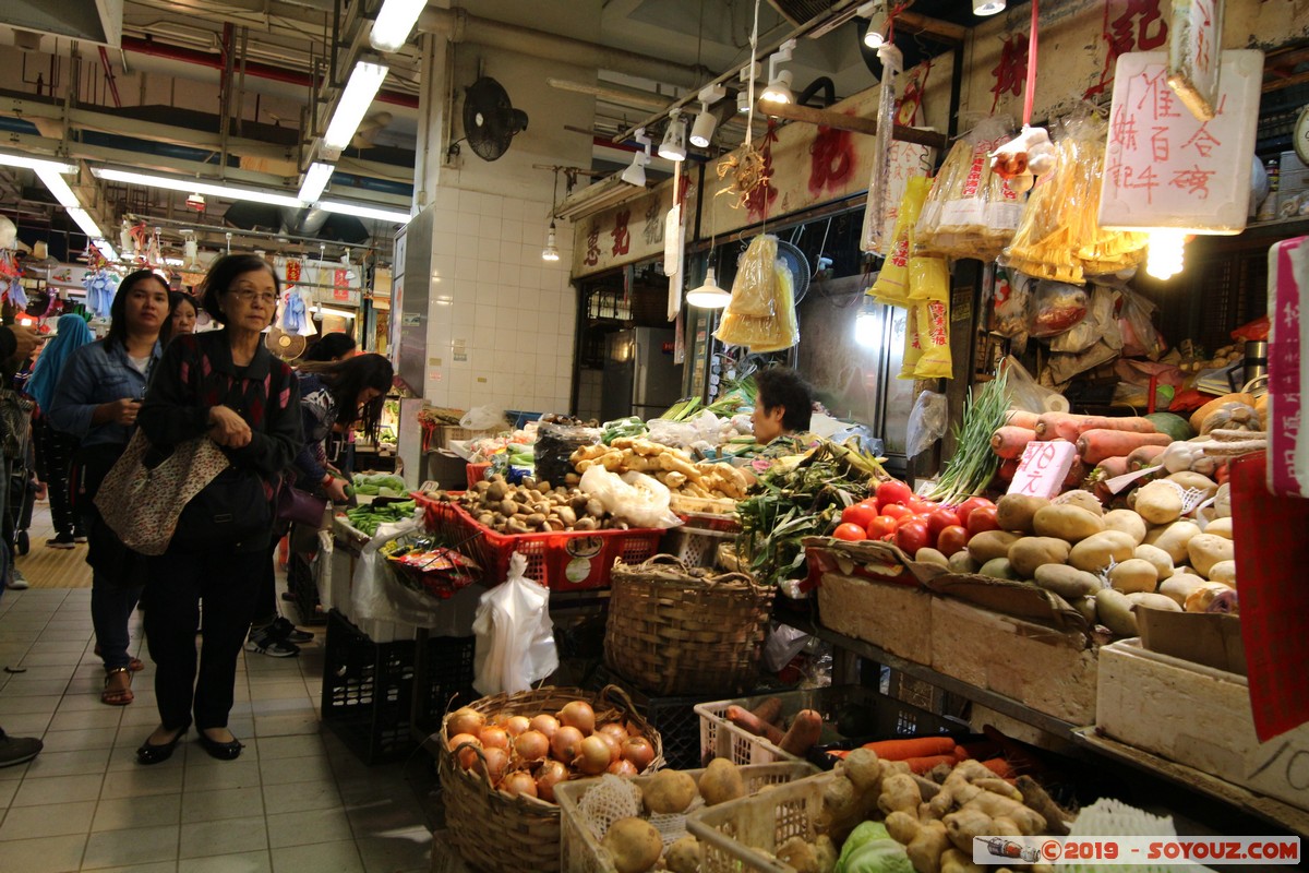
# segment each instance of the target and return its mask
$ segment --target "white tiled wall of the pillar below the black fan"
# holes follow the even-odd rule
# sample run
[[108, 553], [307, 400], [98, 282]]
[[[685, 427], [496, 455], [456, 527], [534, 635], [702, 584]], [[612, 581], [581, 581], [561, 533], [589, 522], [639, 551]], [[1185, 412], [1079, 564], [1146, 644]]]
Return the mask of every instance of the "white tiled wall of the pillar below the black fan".
[[548, 203], [441, 188], [433, 208], [424, 397], [457, 408], [567, 412], [577, 309], [568, 283], [572, 228], [559, 224], [562, 258], [547, 262]]

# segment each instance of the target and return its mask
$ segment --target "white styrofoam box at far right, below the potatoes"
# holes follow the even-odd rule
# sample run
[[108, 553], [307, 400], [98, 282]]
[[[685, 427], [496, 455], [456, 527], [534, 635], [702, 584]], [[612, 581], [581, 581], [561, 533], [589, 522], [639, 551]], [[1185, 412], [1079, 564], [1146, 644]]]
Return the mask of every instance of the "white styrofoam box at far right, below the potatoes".
[[1244, 675], [1141, 648], [1100, 650], [1096, 728], [1114, 739], [1309, 809], [1309, 724], [1261, 743]]

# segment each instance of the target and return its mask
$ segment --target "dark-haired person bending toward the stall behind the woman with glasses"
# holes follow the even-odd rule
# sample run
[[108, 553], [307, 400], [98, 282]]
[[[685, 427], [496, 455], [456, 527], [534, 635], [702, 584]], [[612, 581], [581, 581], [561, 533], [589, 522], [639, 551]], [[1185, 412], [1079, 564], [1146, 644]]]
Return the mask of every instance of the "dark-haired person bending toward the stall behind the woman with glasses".
[[[334, 364], [308, 363], [300, 366], [300, 421], [305, 442], [292, 471], [296, 487], [322, 491], [332, 503], [346, 503], [348, 483], [330, 469], [326, 440], [332, 427], [350, 431], [357, 421], [364, 433], [376, 441], [382, 402], [394, 378], [391, 363], [381, 355], [357, 355]], [[313, 633], [297, 631], [289, 620], [278, 615], [272, 561], [283, 534], [281, 530], [275, 531], [268, 560], [264, 561], [259, 602], [246, 641], [247, 650], [274, 657], [297, 654], [296, 643], [313, 639]]]

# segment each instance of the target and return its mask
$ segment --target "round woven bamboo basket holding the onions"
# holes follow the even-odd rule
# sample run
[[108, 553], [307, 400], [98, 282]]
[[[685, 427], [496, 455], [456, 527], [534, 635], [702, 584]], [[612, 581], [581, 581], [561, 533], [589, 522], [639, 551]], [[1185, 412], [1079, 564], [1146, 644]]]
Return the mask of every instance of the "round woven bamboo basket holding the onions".
[[[495, 716], [535, 716], [555, 713], [564, 704], [585, 700], [596, 709], [596, 724], [623, 719], [635, 724], [654, 746], [654, 760], [645, 770], [664, 766], [664, 745], [658, 732], [647, 724], [627, 695], [615, 686], [600, 694], [581, 688], [542, 687], [518, 694], [497, 694], [470, 704], [470, 709]], [[441, 734], [446, 737], [446, 722]], [[490, 780], [459, 767], [442, 741], [437, 743], [437, 771], [445, 798], [445, 822], [450, 842], [463, 861], [483, 873], [556, 873], [559, 870], [559, 808], [535, 797], [511, 797], [496, 791]]]

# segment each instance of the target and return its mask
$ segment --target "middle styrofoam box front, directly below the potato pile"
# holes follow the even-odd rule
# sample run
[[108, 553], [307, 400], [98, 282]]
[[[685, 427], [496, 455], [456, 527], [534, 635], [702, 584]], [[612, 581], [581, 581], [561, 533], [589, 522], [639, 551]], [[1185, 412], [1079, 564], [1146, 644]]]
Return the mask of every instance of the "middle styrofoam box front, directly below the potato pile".
[[1073, 725], [1096, 721], [1098, 665], [1085, 633], [937, 597], [931, 665]]

